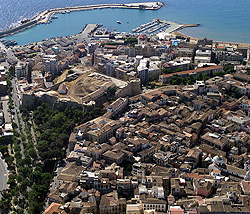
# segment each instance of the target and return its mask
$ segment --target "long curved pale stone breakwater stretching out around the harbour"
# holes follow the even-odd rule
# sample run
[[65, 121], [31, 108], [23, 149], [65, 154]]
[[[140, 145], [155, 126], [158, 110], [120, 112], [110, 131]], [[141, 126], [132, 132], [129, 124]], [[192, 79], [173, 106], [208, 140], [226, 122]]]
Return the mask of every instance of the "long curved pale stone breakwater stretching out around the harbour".
[[55, 8], [41, 11], [30, 20], [13, 28], [8, 28], [0, 31], [0, 38], [10, 36], [22, 32], [28, 28], [34, 27], [38, 24], [47, 24], [56, 13], [70, 13], [74, 11], [86, 11], [95, 9], [137, 9], [137, 10], [159, 10], [164, 6], [163, 2], [142, 2], [142, 3], [128, 3], [128, 4], [97, 4], [97, 5], [84, 5], [73, 6], [65, 8]]

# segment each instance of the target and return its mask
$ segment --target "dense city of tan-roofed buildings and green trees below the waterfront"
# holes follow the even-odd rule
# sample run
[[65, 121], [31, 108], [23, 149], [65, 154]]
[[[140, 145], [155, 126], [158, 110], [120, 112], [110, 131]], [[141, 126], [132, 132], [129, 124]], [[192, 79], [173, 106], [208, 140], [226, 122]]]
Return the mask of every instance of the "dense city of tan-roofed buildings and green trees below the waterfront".
[[250, 48], [140, 29], [0, 43], [1, 213], [249, 212]]

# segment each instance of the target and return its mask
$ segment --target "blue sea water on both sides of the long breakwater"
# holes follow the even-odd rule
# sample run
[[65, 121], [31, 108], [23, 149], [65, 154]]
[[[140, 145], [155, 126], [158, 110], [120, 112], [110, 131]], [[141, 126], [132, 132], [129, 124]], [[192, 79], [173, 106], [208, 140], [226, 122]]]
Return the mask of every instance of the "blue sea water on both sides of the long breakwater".
[[[42, 10], [101, 3], [131, 3], [150, 0], [0, 0], [0, 29], [32, 18]], [[151, 0], [152, 1], [152, 0]], [[200, 27], [182, 30], [190, 36], [208, 37], [216, 41], [250, 44], [250, 0], [168, 0], [158, 11], [129, 9], [98, 9], [58, 14], [47, 25], [38, 25], [6, 37], [19, 45], [46, 38], [79, 33], [85, 24], [103, 24], [110, 30], [130, 32], [134, 27], [152, 19], [166, 19], [184, 24], [199, 23]], [[121, 25], [116, 21], [120, 20]]]

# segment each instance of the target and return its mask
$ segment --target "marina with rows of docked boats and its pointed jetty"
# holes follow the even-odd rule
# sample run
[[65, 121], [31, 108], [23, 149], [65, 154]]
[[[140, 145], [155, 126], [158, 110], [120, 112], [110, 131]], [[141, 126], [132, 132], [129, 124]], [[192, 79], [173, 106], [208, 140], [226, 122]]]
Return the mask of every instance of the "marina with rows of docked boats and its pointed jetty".
[[172, 33], [187, 27], [198, 27], [200, 24], [180, 24], [168, 20], [152, 20], [146, 24], [142, 24], [132, 30], [133, 33], [156, 34], [156, 33]]

